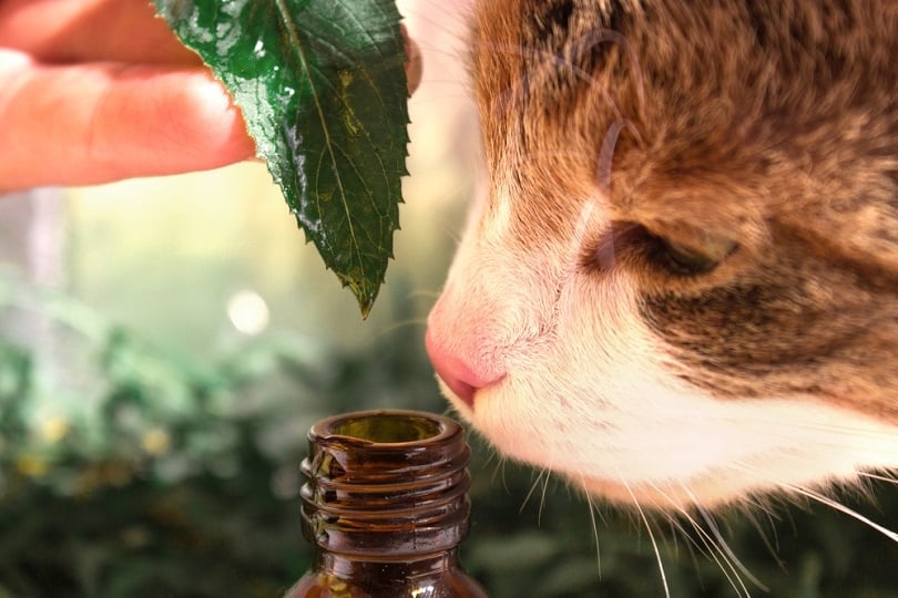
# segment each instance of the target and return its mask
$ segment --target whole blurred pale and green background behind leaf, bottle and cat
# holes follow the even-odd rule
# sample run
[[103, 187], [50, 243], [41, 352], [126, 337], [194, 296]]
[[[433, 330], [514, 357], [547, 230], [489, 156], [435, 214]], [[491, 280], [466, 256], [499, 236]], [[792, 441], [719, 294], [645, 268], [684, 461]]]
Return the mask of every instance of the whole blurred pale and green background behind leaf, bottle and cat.
[[[446, 411], [424, 323], [482, 171], [461, 4], [400, 4], [425, 80], [368, 321], [259, 164], [0, 202], [0, 598], [277, 597], [308, 566], [309, 425]], [[471, 442], [462, 558], [493, 597], [898, 596], [896, 544], [831, 509], [650, 534]], [[846, 503], [898, 529], [875, 496]]]

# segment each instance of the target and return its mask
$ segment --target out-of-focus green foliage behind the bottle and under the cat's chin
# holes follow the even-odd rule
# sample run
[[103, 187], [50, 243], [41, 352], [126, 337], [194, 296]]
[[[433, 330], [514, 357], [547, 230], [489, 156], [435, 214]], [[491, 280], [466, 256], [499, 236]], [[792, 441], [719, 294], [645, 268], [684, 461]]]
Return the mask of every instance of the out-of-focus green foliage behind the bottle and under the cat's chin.
[[[419, 327], [356, 353], [267, 334], [197, 363], [17, 285], [0, 280], [0, 597], [277, 597], [309, 560], [308, 425], [446, 409]], [[702, 532], [655, 517], [650, 536], [639, 514], [591, 515], [562, 483], [471, 442], [462, 559], [497, 598], [664, 596], [659, 559], [674, 597], [898, 596], [898, 545], [830, 508], [695, 515]], [[898, 493], [876, 494], [843, 498], [898, 529]]]

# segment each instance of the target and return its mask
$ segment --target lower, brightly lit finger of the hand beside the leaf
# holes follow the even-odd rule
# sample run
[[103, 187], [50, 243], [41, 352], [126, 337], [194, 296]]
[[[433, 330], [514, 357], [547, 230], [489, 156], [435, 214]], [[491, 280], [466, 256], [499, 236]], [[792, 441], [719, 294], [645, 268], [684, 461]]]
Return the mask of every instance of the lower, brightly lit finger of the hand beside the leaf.
[[[0, 187], [86, 185], [224, 166], [255, 146], [204, 70], [42, 66], [0, 51]], [[76, 90], [76, 92], [73, 92]]]

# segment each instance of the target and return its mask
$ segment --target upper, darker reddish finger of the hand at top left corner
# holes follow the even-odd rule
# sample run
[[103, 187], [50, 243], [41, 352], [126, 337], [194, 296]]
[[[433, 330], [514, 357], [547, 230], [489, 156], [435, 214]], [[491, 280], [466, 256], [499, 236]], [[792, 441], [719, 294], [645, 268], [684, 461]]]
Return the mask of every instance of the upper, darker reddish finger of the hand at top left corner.
[[44, 62], [202, 63], [149, 0], [0, 0], [0, 47]]

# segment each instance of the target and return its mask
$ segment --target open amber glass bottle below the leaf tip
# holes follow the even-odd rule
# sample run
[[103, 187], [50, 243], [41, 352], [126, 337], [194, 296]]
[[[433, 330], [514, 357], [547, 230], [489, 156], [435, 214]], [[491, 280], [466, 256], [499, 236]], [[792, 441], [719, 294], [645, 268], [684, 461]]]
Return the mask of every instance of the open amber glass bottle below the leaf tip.
[[285, 598], [486, 598], [460, 568], [470, 448], [461, 426], [416, 411], [322, 420], [303, 462], [313, 567]]

